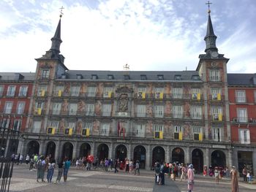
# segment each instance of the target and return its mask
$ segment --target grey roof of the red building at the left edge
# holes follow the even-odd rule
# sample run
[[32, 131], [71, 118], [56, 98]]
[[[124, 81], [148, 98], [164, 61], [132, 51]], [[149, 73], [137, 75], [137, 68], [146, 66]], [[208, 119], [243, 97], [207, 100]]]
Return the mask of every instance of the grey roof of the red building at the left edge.
[[0, 72], [0, 82], [2, 80], [4, 81], [12, 81], [12, 80], [16, 80], [16, 81], [34, 81], [35, 79], [35, 73], [31, 73], [31, 72]]

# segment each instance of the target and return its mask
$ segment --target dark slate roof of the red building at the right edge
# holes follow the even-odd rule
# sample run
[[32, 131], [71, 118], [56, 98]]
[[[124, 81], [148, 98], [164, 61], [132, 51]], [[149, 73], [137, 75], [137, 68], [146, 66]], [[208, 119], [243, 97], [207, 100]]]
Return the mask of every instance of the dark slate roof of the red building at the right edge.
[[256, 86], [256, 73], [230, 73], [227, 74], [227, 85]]

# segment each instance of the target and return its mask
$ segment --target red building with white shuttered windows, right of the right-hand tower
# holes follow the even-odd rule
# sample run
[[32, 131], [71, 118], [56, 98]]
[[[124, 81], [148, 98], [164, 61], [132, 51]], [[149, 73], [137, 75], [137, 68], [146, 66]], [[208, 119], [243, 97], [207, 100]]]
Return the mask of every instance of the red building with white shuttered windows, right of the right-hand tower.
[[[227, 74], [233, 163], [253, 170], [256, 159], [256, 74]], [[255, 166], [255, 165], [254, 165]]]

